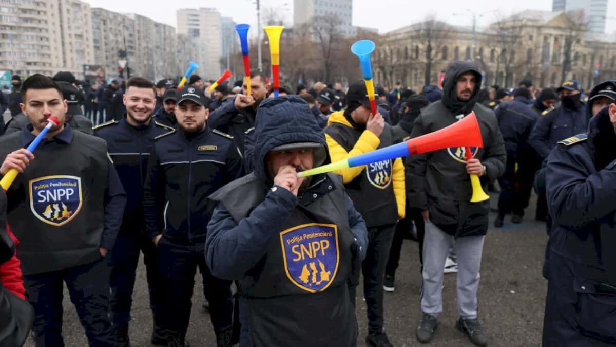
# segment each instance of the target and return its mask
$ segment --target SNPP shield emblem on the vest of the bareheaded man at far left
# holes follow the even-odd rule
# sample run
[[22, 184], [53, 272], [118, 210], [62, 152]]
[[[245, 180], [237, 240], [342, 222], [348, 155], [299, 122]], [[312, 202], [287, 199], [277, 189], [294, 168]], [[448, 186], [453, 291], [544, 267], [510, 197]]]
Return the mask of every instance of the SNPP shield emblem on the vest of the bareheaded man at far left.
[[70, 222], [81, 210], [81, 178], [57, 175], [36, 178], [30, 186], [30, 209], [54, 227]]

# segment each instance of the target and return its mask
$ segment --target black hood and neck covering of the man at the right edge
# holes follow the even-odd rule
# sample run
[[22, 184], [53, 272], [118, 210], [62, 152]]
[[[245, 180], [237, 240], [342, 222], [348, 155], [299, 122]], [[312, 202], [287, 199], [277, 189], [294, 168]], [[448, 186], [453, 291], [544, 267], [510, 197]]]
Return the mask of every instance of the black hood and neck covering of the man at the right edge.
[[594, 165], [602, 170], [616, 159], [616, 132], [605, 107], [588, 123], [588, 145], [594, 153]]

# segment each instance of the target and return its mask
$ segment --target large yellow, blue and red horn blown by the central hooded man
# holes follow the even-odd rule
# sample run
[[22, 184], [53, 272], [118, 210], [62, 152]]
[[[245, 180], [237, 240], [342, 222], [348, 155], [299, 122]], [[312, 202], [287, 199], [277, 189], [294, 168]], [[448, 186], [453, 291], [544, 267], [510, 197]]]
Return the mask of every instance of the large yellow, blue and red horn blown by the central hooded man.
[[436, 132], [411, 138], [402, 143], [392, 144], [385, 148], [377, 149], [359, 156], [350, 157], [342, 161], [315, 167], [314, 169], [298, 172], [298, 177], [324, 174], [349, 167], [367, 165], [372, 162], [386, 161], [409, 155], [428, 153], [450, 147], [483, 147], [484, 141], [481, 138], [479, 123], [475, 112], [464, 117], [462, 120], [453, 123], [447, 128], [442, 128]]

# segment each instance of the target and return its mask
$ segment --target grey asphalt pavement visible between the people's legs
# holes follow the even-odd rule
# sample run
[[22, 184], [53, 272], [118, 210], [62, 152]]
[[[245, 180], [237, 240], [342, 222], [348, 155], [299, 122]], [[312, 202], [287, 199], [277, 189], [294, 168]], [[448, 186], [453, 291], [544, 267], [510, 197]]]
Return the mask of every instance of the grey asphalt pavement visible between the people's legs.
[[[533, 199], [534, 201], [534, 199]], [[492, 203], [496, 203], [493, 196]], [[541, 277], [541, 265], [546, 244], [545, 224], [535, 222], [534, 203], [527, 209], [522, 224], [492, 227], [485, 238], [479, 285], [480, 319], [484, 322], [490, 346], [540, 346], [543, 309], [547, 289]], [[395, 292], [385, 296], [385, 328], [394, 346], [419, 346], [415, 340], [415, 327], [420, 316], [419, 259], [417, 243], [405, 241], [396, 274]], [[148, 307], [145, 270], [139, 267], [132, 309], [130, 333], [133, 346], [150, 346], [152, 317]], [[215, 346], [209, 316], [201, 309], [204, 302], [200, 276], [193, 297], [193, 312], [188, 330], [192, 346]], [[457, 317], [456, 275], [445, 275], [444, 313], [432, 346], [472, 346], [464, 335], [455, 329]], [[362, 293], [361, 290], [358, 293]], [[367, 333], [365, 304], [358, 295], [357, 317], [360, 324], [358, 345], [367, 346], [363, 338]], [[63, 335], [67, 346], [86, 346], [83, 328], [79, 324], [68, 293], [64, 300]], [[318, 319], [318, 317], [316, 317]], [[33, 346], [30, 341], [26, 346]]]

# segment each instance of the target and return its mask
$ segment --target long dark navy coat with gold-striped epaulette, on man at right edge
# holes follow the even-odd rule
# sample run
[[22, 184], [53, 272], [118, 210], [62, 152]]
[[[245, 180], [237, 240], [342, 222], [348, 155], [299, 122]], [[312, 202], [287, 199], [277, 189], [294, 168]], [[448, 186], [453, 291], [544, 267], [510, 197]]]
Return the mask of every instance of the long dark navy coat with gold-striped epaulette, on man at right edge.
[[[610, 93], [611, 94], [611, 93]], [[548, 157], [553, 217], [543, 346], [616, 345], [616, 104]]]

